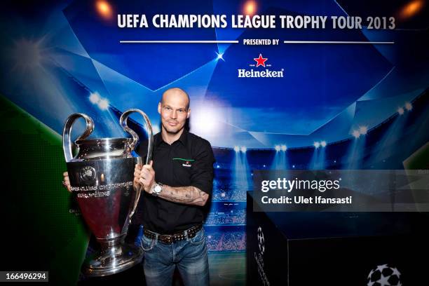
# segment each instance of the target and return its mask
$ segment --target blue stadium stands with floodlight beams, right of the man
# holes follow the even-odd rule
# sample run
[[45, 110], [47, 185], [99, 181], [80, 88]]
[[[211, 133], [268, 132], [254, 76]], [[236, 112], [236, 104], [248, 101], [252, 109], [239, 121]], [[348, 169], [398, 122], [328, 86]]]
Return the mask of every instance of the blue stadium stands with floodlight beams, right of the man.
[[[209, 250], [245, 250], [245, 228], [240, 226], [246, 222], [243, 202], [246, 191], [252, 190], [252, 170], [402, 170], [403, 161], [428, 142], [428, 132], [422, 132], [429, 125], [428, 102], [429, 93], [425, 90], [407, 103], [407, 108], [405, 104], [398, 107], [397, 113], [386, 121], [371, 130], [351, 130], [350, 137], [339, 142], [286, 150], [214, 147], [217, 162], [213, 203], [205, 222]], [[408, 140], [410, 137], [413, 140]], [[276, 156], [282, 156], [282, 152], [284, 165], [278, 165]], [[246, 156], [248, 165], [237, 166], [237, 156]]]

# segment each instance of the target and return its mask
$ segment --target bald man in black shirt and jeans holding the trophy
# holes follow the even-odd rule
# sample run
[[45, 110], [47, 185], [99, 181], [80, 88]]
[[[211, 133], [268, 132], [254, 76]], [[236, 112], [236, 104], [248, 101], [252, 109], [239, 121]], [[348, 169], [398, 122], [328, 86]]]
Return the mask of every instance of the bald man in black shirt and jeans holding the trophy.
[[[179, 88], [158, 104], [161, 132], [154, 136], [153, 161], [135, 167], [144, 193], [136, 221], [143, 225], [144, 275], [148, 286], [172, 285], [177, 266], [185, 285], [209, 285], [203, 206], [213, 184], [210, 143], [185, 129], [189, 96]], [[147, 142], [137, 153], [146, 156]]]

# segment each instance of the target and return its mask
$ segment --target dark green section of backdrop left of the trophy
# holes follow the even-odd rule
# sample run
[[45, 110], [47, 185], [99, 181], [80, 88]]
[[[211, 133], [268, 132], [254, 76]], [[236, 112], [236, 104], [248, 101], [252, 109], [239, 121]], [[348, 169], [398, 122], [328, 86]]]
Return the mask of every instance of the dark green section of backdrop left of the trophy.
[[[53, 285], [76, 285], [89, 233], [62, 186], [62, 137], [0, 96], [2, 210], [7, 245], [1, 270], [49, 271]], [[5, 240], [5, 238], [4, 238]]]

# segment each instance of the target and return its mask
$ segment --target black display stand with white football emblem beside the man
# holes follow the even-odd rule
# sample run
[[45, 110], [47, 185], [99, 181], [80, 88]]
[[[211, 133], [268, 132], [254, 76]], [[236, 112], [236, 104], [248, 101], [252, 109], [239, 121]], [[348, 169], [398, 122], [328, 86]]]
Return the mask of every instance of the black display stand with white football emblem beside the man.
[[[429, 285], [428, 215], [418, 212], [254, 212], [247, 193], [248, 285]], [[378, 279], [380, 271], [372, 273]], [[381, 278], [381, 277], [380, 277]]]

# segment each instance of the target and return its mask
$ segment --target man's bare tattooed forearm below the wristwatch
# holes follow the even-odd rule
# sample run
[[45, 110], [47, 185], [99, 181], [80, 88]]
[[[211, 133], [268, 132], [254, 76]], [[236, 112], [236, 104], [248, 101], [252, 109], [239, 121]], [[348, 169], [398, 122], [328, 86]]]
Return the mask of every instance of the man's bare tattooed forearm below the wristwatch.
[[163, 191], [159, 194], [161, 198], [175, 203], [186, 205], [200, 205], [207, 203], [208, 194], [195, 186], [167, 186], [163, 185]]

